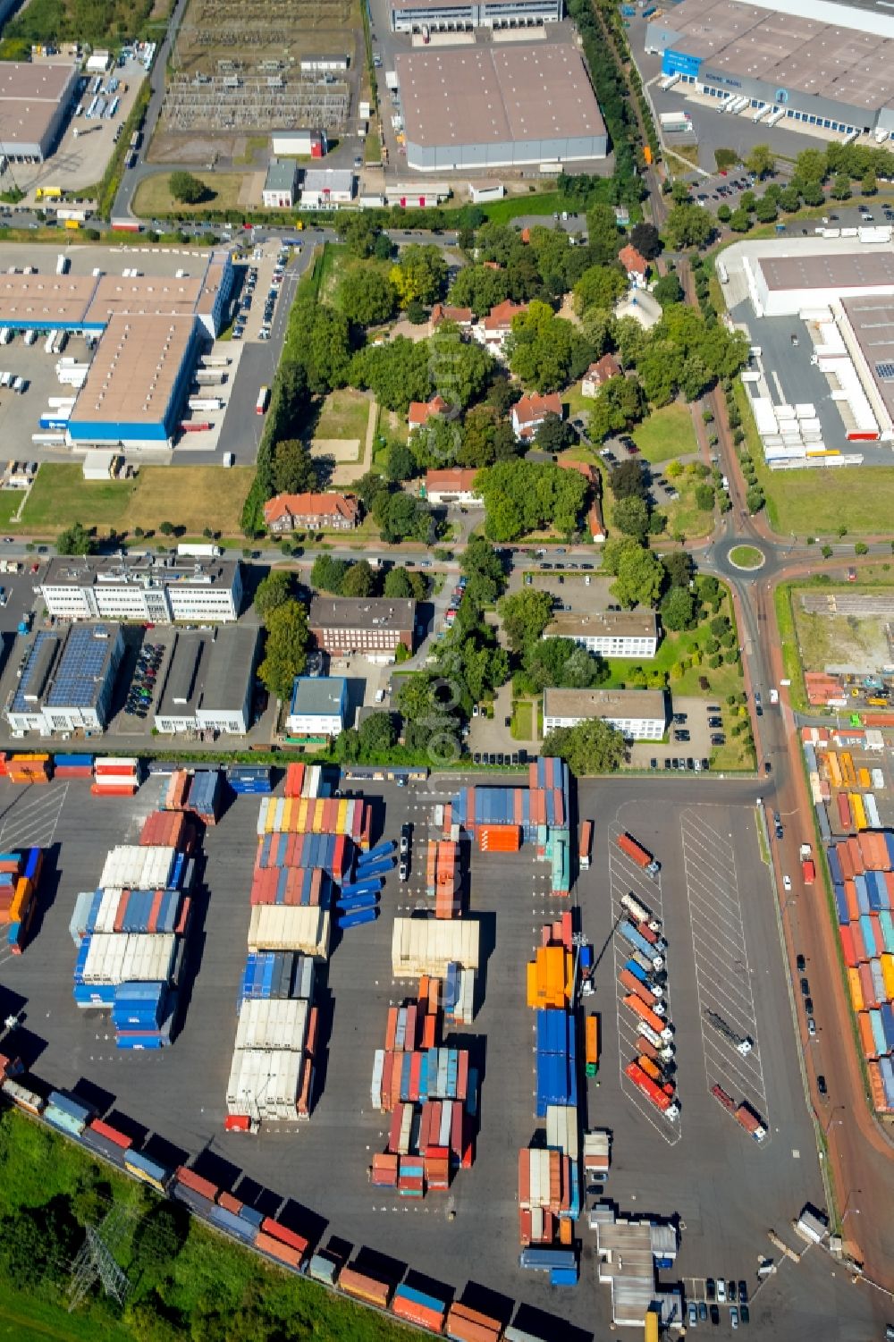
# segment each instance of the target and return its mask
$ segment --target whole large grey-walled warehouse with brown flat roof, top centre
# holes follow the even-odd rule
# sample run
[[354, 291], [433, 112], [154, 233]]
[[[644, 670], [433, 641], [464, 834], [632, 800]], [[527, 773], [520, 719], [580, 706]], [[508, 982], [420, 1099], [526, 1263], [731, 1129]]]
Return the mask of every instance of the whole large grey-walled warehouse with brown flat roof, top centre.
[[605, 125], [570, 43], [424, 47], [396, 58], [407, 162], [481, 170], [604, 158]]

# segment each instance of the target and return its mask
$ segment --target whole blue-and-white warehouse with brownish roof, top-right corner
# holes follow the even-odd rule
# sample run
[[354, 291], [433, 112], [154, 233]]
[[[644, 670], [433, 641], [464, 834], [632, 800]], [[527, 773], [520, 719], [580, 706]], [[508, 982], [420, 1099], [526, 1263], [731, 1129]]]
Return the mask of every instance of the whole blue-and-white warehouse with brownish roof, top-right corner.
[[650, 21], [646, 51], [662, 56], [662, 74], [681, 91], [722, 103], [746, 98], [766, 125], [871, 133], [879, 142], [894, 134], [890, 9], [834, 0], [682, 0]]

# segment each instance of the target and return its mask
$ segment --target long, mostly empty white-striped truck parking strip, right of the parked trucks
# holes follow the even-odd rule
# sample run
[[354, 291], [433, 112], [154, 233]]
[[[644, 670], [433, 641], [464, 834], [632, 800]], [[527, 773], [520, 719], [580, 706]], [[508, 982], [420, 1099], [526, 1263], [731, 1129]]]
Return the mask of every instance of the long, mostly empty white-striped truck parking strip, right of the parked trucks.
[[[766, 1086], [757, 1043], [736, 854], [728, 836], [699, 812], [681, 815], [681, 837], [705, 1082], [709, 1092], [711, 1086], [719, 1084], [737, 1103], [745, 1100], [757, 1110], [768, 1129], [761, 1142], [766, 1146], [771, 1139]], [[750, 1052], [740, 1053], [733, 1040], [711, 1027], [707, 1012], [718, 1016], [734, 1035], [749, 1039]]]

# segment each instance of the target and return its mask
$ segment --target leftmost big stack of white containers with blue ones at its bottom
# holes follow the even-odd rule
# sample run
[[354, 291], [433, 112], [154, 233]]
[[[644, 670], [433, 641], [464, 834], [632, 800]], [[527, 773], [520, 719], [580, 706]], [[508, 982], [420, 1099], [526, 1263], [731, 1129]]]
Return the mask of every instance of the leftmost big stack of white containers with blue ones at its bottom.
[[164, 1048], [189, 933], [196, 832], [188, 816], [146, 816], [137, 844], [113, 848], [97, 890], [75, 899], [74, 998], [111, 1008], [118, 1048]]

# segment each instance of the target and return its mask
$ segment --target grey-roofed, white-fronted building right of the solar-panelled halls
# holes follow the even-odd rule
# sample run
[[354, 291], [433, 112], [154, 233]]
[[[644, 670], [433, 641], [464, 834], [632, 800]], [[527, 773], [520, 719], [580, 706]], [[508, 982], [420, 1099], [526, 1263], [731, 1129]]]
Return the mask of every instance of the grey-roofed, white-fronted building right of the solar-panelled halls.
[[251, 726], [259, 635], [255, 624], [177, 633], [154, 714], [156, 729], [165, 735], [211, 731], [244, 737]]

